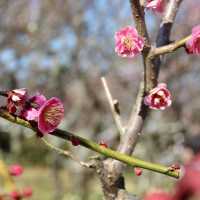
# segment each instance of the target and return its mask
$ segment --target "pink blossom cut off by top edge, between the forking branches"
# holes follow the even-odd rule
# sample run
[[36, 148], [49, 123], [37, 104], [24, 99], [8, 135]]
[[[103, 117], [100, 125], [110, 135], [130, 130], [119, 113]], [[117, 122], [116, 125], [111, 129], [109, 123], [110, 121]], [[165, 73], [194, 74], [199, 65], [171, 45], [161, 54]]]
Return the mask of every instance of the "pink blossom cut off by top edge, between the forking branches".
[[147, 0], [146, 8], [153, 12], [162, 13], [165, 7], [165, 0]]

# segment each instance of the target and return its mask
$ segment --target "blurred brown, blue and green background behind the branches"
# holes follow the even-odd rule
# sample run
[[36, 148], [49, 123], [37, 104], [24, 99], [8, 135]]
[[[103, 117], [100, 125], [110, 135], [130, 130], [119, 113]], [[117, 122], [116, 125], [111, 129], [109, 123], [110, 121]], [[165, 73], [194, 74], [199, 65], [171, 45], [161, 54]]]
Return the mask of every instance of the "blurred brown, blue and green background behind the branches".
[[[200, 21], [200, 0], [183, 1], [172, 40], [190, 34]], [[161, 16], [146, 12], [152, 42]], [[1, 0], [0, 89], [28, 88], [47, 97], [58, 96], [65, 105], [60, 128], [115, 147], [119, 136], [100, 77], [106, 76], [114, 98], [128, 120], [142, 77], [142, 60], [119, 58], [114, 33], [134, 25], [129, 1], [108, 0]], [[181, 163], [182, 142], [200, 134], [199, 57], [184, 49], [164, 59], [159, 81], [173, 94], [172, 107], [152, 111], [134, 152], [139, 158], [170, 165]], [[0, 98], [1, 104], [4, 103]], [[81, 160], [95, 153], [53, 136], [48, 140]], [[32, 200], [98, 200], [101, 185], [92, 170], [84, 169], [46, 147], [31, 131], [0, 119], [1, 157], [19, 163], [25, 172], [17, 186], [31, 186]], [[151, 188], [170, 190], [173, 178], [144, 171], [125, 174], [128, 191], [137, 195]]]

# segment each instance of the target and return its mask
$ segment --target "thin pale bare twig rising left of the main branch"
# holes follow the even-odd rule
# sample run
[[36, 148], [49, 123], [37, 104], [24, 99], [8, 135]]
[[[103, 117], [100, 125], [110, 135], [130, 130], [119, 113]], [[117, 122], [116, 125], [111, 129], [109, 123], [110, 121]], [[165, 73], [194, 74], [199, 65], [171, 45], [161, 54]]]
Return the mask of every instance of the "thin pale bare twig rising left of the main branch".
[[112, 94], [111, 94], [111, 92], [109, 90], [106, 78], [102, 77], [101, 81], [102, 81], [102, 84], [103, 84], [103, 87], [104, 87], [104, 90], [105, 90], [105, 93], [106, 93], [106, 97], [108, 99], [108, 103], [110, 105], [112, 116], [113, 116], [113, 118], [115, 120], [117, 129], [118, 129], [120, 135], [123, 135], [124, 134], [124, 128], [123, 128], [122, 123], [121, 123], [120, 113], [117, 110], [117, 108], [115, 107], [115, 103], [114, 103], [114, 100], [112, 98]]

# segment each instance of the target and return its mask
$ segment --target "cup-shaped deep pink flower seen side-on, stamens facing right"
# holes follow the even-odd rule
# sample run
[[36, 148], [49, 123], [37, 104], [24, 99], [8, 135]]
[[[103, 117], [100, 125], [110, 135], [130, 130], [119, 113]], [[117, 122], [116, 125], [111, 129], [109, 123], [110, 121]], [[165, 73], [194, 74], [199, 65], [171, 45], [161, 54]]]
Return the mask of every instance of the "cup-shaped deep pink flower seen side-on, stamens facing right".
[[53, 132], [64, 117], [64, 106], [62, 102], [52, 97], [39, 109], [38, 128], [41, 133]]

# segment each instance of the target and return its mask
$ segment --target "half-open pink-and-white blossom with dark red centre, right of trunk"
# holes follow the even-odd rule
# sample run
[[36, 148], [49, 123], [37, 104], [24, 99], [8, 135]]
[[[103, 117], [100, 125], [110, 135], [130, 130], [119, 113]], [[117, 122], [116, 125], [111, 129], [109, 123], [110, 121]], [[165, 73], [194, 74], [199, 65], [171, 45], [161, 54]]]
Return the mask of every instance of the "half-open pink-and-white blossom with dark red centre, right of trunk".
[[154, 110], [164, 110], [172, 103], [170, 91], [165, 83], [158, 84], [144, 98], [145, 105]]

